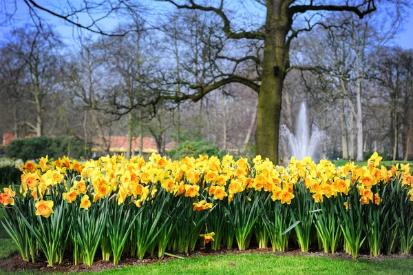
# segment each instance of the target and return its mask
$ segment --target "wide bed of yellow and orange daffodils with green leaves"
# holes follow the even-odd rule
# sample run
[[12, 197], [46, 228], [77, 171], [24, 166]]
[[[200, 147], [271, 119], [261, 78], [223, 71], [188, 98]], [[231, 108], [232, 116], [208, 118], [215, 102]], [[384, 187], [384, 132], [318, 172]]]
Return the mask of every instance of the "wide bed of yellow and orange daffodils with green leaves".
[[[193, 251], [197, 245], [241, 250], [269, 245], [357, 257], [410, 254], [413, 177], [409, 165], [390, 170], [374, 153], [368, 166], [291, 159], [287, 167], [260, 156], [170, 161], [153, 154], [77, 161], [42, 158], [21, 166], [19, 190], [5, 188], [4, 226], [25, 261], [42, 252], [50, 266], [92, 265], [97, 252], [114, 264], [123, 255]], [[17, 196], [17, 193], [21, 196]], [[168, 253], [168, 252], [170, 253]]]

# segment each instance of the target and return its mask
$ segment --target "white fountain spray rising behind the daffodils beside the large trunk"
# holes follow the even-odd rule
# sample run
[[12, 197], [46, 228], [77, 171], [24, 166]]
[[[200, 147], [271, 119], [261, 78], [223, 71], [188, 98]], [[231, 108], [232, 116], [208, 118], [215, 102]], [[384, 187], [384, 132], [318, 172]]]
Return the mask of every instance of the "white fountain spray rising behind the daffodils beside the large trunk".
[[281, 134], [288, 141], [289, 153], [296, 159], [302, 160], [305, 156], [314, 157], [320, 141], [324, 139], [324, 132], [313, 128], [311, 132], [308, 125], [306, 103], [302, 103], [295, 121], [295, 134], [286, 125], [281, 125]]

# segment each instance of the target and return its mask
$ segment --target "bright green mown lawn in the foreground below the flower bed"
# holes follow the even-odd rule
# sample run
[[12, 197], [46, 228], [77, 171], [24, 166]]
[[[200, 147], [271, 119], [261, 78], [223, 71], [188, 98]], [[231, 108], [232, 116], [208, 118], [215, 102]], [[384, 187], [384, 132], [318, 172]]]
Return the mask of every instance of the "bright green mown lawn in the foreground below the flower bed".
[[[339, 260], [316, 256], [239, 254], [188, 258], [169, 263], [109, 269], [85, 274], [413, 274], [413, 259], [386, 261]], [[22, 272], [14, 274], [35, 274]]]

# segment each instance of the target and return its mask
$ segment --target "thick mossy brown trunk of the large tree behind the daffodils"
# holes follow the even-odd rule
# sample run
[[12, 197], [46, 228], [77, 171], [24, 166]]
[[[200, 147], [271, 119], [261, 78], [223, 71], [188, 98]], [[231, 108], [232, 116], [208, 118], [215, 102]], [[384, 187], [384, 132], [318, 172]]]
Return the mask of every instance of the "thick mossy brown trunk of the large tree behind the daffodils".
[[279, 120], [286, 71], [288, 7], [281, 1], [266, 1], [266, 37], [262, 61], [262, 84], [258, 99], [255, 152], [278, 163]]

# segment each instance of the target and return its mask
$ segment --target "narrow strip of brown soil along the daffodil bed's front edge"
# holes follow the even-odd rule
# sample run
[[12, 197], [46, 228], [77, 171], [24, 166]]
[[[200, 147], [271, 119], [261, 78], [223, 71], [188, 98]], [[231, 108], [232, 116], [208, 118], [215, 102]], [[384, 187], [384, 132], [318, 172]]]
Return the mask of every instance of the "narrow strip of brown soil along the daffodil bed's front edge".
[[[180, 254], [176, 253], [177, 256], [182, 256], [185, 258], [191, 257], [200, 257], [200, 256], [216, 256], [222, 254], [275, 254], [275, 255], [282, 255], [282, 256], [324, 256], [327, 258], [337, 258], [343, 260], [350, 260], [353, 261], [353, 258], [344, 252], [337, 252], [335, 254], [326, 254], [324, 252], [301, 252], [300, 249], [290, 250], [288, 252], [273, 252], [272, 249], [248, 249], [245, 251], [240, 251], [238, 249], [220, 249], [219, 251], [213, 251], [211, 249], [200, 249], [191, 254]], [[389, 259], [404, 259], [404, 258], [413, 258], [413, 255], [406, 255], [406, 254], [392, 254], [390, 256], [381, 255], [377, 257], [373, 257], [370, 255], [359, 255], [357, 260], [368, 260], [368, 261], [383, 261]], [[167, 263], [169, 261], [178, 261], [177, 258], [173, 258], [171, 256], [165, 256], [164, 258], [160, 259], [157, 257], [152, 258], [145, 258], [142, 261], [138, 260], [138, 258], [123, 258], [120, 261], [119, 265], [114, 265], [112, 262], [98, 260], [95, 261], [94, 264], [89, 267], [87, 265], [73, 265], [72, 261], [69, 259], [63, 261], [63, 263], [59, 265], [55, 265], [54, 267], [50, 267], [47, 265], [47, 261], [45, 258], [36, 259], [36, 263], [27, 263], [23, 261], [20, 254], [13, 254], [8, 258], [3, 258], [0, 260], [0, 271], [3, 272], [21, 272], [24, 270], [32, 270], [36, 272], [43, 272], [43, 273], [54, 273], [54, 272], [99, 272], [106, 269], [112, 268], [120, 268], [125, 266], [131, 265], [149, 265], [152, 263]]]

